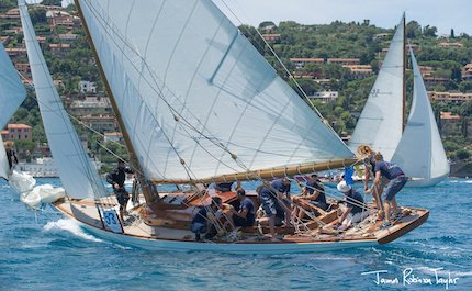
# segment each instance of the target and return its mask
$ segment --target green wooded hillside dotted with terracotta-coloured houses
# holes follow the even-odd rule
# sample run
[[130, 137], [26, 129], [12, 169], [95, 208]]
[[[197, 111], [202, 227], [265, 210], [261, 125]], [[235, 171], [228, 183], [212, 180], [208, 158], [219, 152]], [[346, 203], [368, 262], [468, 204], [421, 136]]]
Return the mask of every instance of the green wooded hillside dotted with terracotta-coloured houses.
[[[57, 4], [60, 1], [48, 2]], [[0, 13], [14, 14], [11, 9], [14, 9], [15, 3], [16, 1], [1, 1]], [[46, 12], [53, 10], [59, 12], [46, 18]], [[93, 96], [98, 99], [106, 98], [74, 5], [67, 9], [35, 5], [31, 7], [30, 13], [36, 34], [42, 37], [44, 55], [53, 78], [58, 82], [58, 90], [66, 105], [87, 97], [79, 91], [80, 81], [95, 83], [97, 92]], [[2, 31], [0, 36], [5, 47], [15, 49], [24, 45], [21, 30], [18, 29], [21, 27], [21, 23], [13, 14], [0, 19]], [[65, 18], [69, 22], [55, 22], [55, 18]], [[276, 24], [267, 21], [261, 23], [258, 30], [303, 88], [304, 93], [314, 96], [322, 92], [336, 92], [329, 101], [314, 98], [312, 102], [338, 134], [348, 137], [375, 80], [375, 74], [389, 47], [394, 27], [389, 30], [377, 27], [369, 21], [363, 23], [336, 21], [327, 25], [302, 25], [291, 21]], [[303, 96], [265, 45], [263, 40], [259, 37], [256, 29], [244, 25], [240, 26], [240, 31], [273, 65], [279, 75]], [[408, 22], [407, 25], [407, 36], [423, 67], [428, 91], [472, 93], [472, 69], [471, 78], [464, 70], [465, 66], [472, 63], [472, 37], [465, 34], [454, 35], [453, 31], [448, 36], [438, 37], [436, 32], [436, 27], [420, 26], [415, 21]], [[18, 68], [27, 63], [26, 56], [21, 52], [12, 56], [12, 59]], [[24, 78], [30, 78], [27, 69], [24, 71]], [[407, 91], [411, 96], [412, 76], [408, 77]], [[14, 123], [26, 123], [33, 126], [32, 143], [18, 144], [19, 147], [30, 152], [33, 152], [37, 143], [46, 142], [33, 96], [33, 91], [30, 90], [27, 100], [11, 120]], [[432, 101], [432, 105], [448, 156], [452, 159], [468, 159], [472, 153], [470, 147], [472, 139], [469, 135], [472, 101], [442, 100]], [[111, 112], [111, 109], [106, 110]], [[441, 120], [441, 111], [451, 112], [450, 114], [457, 119]], [[78, 119], [83, 117], [79, 113], [75, 115]], [[116, 131], [116, 128], [117, 126], [114, 126], [101, 132]], [[106, 156], [106, 152], [100, 149], [97, 144], [100, 136], [88, 133], [82, 127], [79, 132], [89, 136], [89, 148], [93, 154]]]

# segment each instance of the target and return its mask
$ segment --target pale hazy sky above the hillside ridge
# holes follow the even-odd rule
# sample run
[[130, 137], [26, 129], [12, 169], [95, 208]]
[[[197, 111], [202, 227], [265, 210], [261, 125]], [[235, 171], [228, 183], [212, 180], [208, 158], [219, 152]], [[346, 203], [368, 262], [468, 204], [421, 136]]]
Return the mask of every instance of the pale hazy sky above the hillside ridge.
[[[34, 2], [38, 0], [27, 0]], [[329, 24], [335, 20], [370, 23], [393, 29], [406, 13], [406, 21], [438, 29], [438, 35], [472, 35], [472, 0], [213, 0], [239, 25], [259, 25], [262, 21], [292, 20], [301, 24]], [[64, 0], [63, 4], [71, 2]], [[229, 7], [237, 18], [232, 16]]]

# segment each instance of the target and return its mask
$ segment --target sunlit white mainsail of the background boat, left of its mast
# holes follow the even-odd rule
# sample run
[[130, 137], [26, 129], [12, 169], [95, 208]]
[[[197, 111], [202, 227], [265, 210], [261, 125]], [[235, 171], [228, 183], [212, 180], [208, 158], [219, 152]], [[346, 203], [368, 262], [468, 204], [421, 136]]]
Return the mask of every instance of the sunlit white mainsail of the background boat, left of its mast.
[[404, 26], [402, 18], [357, 122], [349, 147], [366, 144], [391, 160], [403, 131]]

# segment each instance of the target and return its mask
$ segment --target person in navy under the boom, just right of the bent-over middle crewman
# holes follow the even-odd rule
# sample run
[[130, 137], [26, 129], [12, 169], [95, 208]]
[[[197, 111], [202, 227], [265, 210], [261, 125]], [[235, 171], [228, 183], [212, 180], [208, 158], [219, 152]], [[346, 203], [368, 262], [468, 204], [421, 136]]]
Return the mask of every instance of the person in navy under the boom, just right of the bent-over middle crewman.
[[316, 174], [310, 176], [310, 179], [306, 182], [302, 194], [300, 194], [299, 197], [294, 197], [293, 202], [299, 203], [293, 213], [293, 215], [297, 216], [299, 220], [302, 220], [305, 214], [305, 212], [302, 211], [300, 208], [305, 210], [312, 209], [310, 205], [306, 205], [306, 203], [310, 203], [322, 210], [328, 209], [328, 205], [326, 203], [325, 189], [322, 182], [318, 180], [318, 176]]

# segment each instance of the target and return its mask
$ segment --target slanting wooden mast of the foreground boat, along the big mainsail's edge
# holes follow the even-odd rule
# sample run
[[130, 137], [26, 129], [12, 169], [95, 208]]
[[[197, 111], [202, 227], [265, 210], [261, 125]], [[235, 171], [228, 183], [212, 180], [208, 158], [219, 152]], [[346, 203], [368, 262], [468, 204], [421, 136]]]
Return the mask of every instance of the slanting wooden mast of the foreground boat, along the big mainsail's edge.
[[114, 99], [114, 96], [113, 96], [113, 92], [111, 90], [110, 83], [109, 83], [109, 81], [106, 79], [106, 76], [105, 76], [105, 74], [103, 71], [103, 67], [102, 67], [102, 64], [100, 61], [99, 55], [97, 53], [93, 40], [92, 40], [92, 37], [90, 35], [89, 27], [87, 26], [87, 22], [86, 22], [86, 20], [83, 18], [82, 9], [81, 9], [78, 0], [74, 0], [74, 3], [77, 7], [77, 11], [79, 13], [80, 20], [82, 21], [83, 30], [85, 30], [85, 32], [87, 34], [87, 40], [89, 42], [90, 48], [93, 52], [93, 56], [95, 57], [97, 66], [99, 68], [100, 75], [102, 76], [102, 80], [103, 80], [103, 82], [105, 85], [106, 92], [108, 92], [108, 94], [110, 97], [110, 103], [112, 104], [112, 108], [113, 108], [113, 111], [115, 113], [115, 117], [117, 120], [120, 130], [121, 130], [121, 132], [123, 134], [123, 139], [125, 142], [125, 146], [126, 146], [126, 148], [127, 148], [127, 150], [130, 153], [130, 164], [133, 167], [133, 169], [135, 170], [135, 176], [136, 176], [136, 179], [139, 182], [141, 188], [143, 190], [143, 194], [144, 194], [144, 198], [146, 200], [146, 203], [154, 204], [156, 202], [156, 197], [155, 197], [154, 192], [150, 190], [149, 183], [146, 181], [146, 179], [144, 177], [144, 172], [143, 172], [143, 169], [142, 169], [142, 167], [139, 165], [139, 161], [137, 159], [136, 152], [135, 152], [135, 149], [133, 147], [133, 144], [131, 143], [130, 134], [127, 133], [126, 127], [125, 127], [124, 122], [123, 122], [123, 119], [122, 119], [122, 116], [120, 114], [119, 107], [117, 107], [116, 101]]

